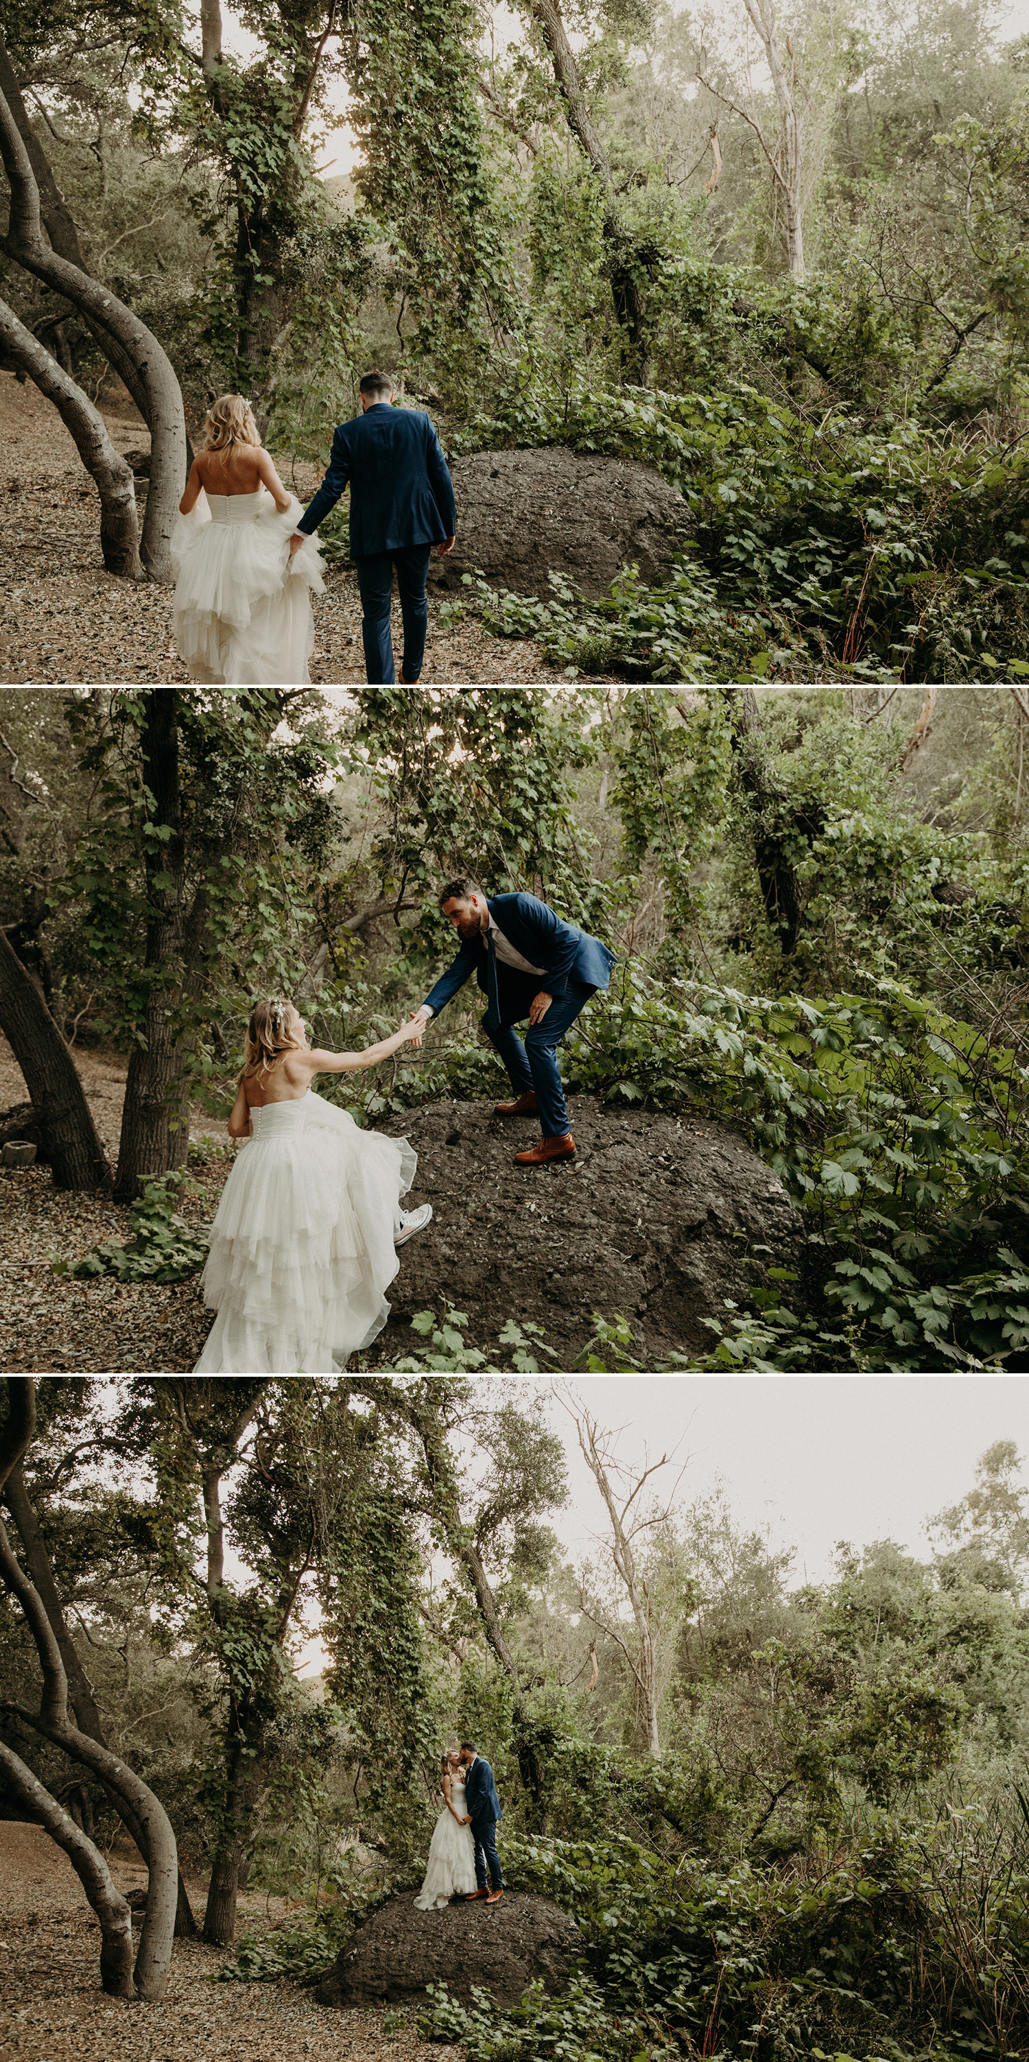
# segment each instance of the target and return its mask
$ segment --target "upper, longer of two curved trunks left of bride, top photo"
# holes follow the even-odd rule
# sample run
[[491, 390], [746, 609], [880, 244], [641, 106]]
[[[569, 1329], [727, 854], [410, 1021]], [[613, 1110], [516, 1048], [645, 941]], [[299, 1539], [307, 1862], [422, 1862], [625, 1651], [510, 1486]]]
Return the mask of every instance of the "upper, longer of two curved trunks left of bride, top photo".
[[[171, 581], [171, 526], [186, 485], [186, 417], [179, 381], [157, 336], [82, 266], [43, 239], [39, 186], [14, 113], [0, 93], [0, 157], [10, 181], [10, 221], [0, 247], [16, 264], [62, 293], [132, 359], [146, 394], [151, 425], [151, 489], [142, 520], [142, 563], [151, 579]], [[107, 348], [107, 346], [105, 346]]]

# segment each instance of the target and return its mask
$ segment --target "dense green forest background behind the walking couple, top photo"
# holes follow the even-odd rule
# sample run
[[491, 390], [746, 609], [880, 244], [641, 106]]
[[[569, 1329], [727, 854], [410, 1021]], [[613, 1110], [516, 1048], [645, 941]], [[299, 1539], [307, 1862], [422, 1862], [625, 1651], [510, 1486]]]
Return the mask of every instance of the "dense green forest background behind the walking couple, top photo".
[[[128, 384], [153, 577], [219, 392], [324, 464], [386, 361], [452, 454], [569, 443], [685, 495], [656, 588], [470, 575], [450, 606], [497, 633], [641, 680], [1029, 674], [1025, 39], [990, 0], [14, 0], [2, 33], [6, 363]], [[138, 571], [132, 480], [74, 433]]]

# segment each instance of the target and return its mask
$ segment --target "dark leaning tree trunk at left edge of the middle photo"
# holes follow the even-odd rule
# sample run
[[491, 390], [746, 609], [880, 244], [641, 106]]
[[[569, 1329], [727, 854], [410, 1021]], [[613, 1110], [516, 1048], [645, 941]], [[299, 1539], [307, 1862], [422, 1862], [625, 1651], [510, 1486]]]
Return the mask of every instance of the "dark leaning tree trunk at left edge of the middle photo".
[[25, 1074], [56, 1188], [109, 1188], [111, 1173], [74, 1060], [2, 930], [0, 1029]]

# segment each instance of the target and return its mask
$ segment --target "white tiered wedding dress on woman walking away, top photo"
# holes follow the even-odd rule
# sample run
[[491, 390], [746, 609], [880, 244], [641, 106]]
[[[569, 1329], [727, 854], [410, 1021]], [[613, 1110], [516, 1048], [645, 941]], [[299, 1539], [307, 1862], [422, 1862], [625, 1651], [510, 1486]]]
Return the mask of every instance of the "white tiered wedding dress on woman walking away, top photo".
[[225, 687], [307, 687], [311, 594], [324, 594], [313, 538], [295, 557], [303, 516], [295, 495], [280, 516], [272, 495], [208, 495], [171, 532], [175, 645], [190, 680]]

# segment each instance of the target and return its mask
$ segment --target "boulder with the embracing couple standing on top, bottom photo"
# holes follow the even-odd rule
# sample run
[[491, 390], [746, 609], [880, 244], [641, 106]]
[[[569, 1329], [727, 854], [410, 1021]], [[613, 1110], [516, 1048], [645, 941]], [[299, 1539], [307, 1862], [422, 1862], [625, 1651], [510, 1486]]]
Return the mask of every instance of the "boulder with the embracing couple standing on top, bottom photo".
[[316, 1990], [318, 2004], [404, 2004], [429, 1984], [452, 1998], [489, 1990], [497, 2004], [518, 2004], [542, 1977], [553, 1994], [582, 1953], [575, 1920], [546, 1897], [505, 1891], [499, 1905], [464, 1899], [441, 1911], [419, 1911], [414, 1891], [390, 1897], [346, 1942]]

